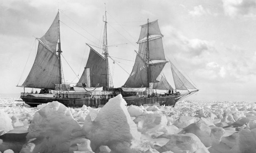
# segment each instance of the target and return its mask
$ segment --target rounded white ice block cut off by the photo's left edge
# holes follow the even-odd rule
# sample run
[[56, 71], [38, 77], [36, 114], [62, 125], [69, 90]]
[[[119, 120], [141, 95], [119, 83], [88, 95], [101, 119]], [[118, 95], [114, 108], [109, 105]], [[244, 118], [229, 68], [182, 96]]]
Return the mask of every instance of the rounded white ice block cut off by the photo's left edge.
[[0, 109], [0, 135], [5, 134], [10, 130], [13, 130], [12, 119], [9, 118], [5, 111]]

